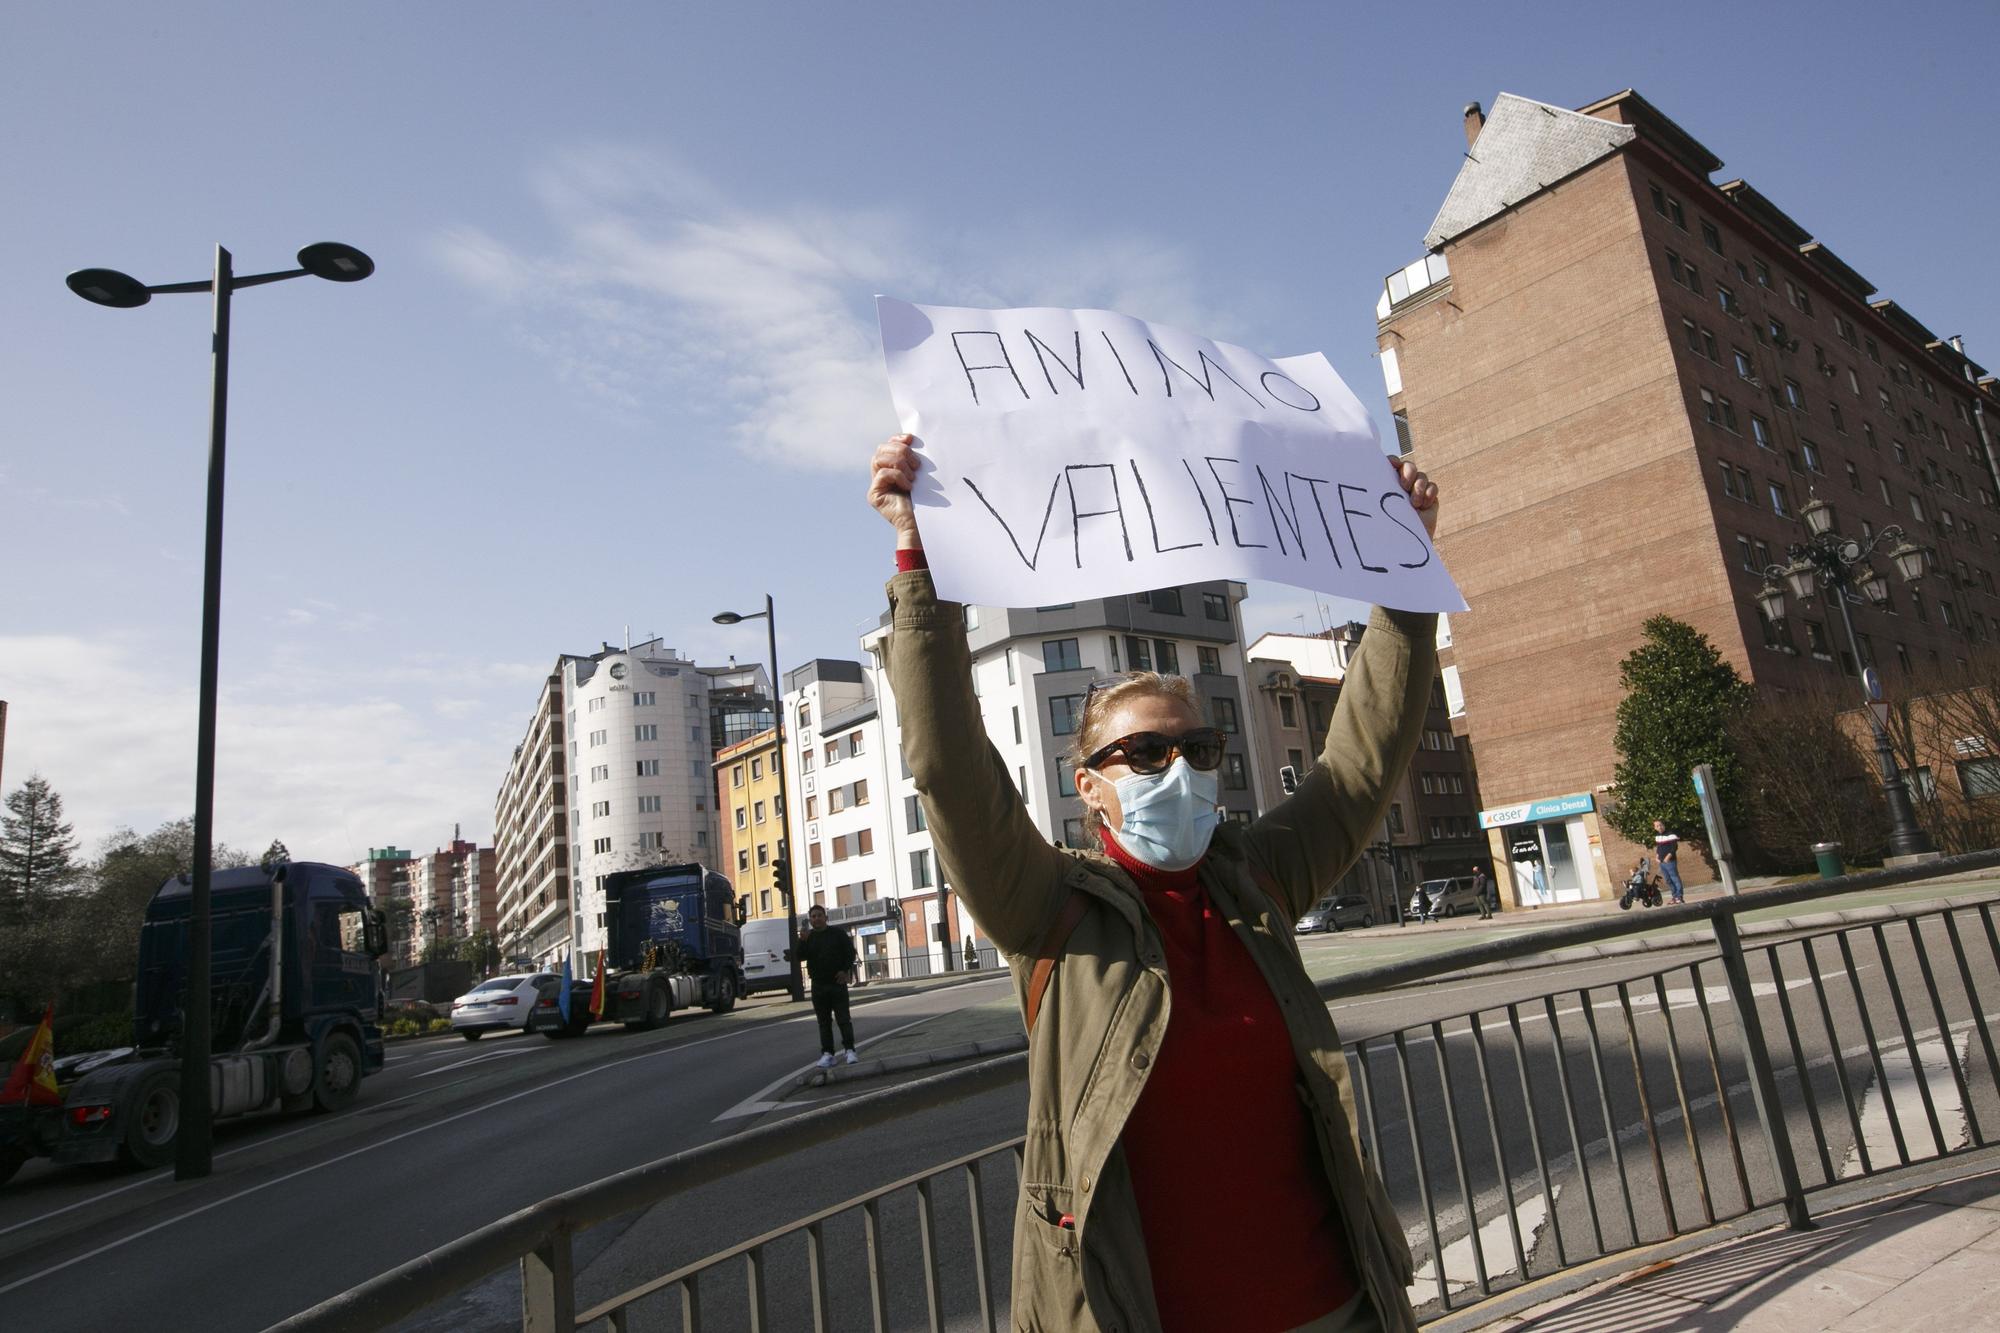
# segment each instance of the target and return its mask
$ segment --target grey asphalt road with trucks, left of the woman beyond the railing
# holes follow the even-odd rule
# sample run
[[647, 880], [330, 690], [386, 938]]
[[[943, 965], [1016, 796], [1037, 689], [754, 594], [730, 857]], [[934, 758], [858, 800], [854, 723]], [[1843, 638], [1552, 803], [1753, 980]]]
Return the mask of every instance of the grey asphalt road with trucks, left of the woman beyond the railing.
[[[1004, 979], [858, 993], [866, 1043]], [[718, 1119], [818, 1057], [810, 1011], [754, 1001], [658, 1033], [394, 1043], [334, 1117], [218, 1125], [216, 1171], [54, 1169], [0, 1191], [0, 1309], [48, 1329], [262, 1329], [552, 1193], [752, 1123]]]

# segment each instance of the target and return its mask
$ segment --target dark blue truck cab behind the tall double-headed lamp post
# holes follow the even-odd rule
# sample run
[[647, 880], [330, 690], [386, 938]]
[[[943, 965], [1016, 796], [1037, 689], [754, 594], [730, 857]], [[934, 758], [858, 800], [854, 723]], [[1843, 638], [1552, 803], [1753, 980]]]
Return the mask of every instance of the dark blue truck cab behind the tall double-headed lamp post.
[[[134, 1047], [56, 1059], [60, 1107], [0, 1109], [0, 1181], [30, 1155], [160, 1167], [180, 1129], [180, 1029], [192, 881], [160, 885], [138, 937]], [[216, 1119], [338, 1111], [382, 1069], [382, 913], [350, 871], [296, 861], [210, 881]], [[60, 1051], [58, 1051], [60, 1057]]]

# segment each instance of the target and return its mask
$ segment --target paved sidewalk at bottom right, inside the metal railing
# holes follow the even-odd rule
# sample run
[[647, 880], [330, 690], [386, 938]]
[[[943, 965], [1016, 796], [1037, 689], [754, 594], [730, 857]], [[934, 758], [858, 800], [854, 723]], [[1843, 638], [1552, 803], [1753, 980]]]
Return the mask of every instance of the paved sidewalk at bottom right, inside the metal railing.
[[2000, 1329], [2000, 1171], [1734, 1237], [1480, 1325], [1506, 1333]]

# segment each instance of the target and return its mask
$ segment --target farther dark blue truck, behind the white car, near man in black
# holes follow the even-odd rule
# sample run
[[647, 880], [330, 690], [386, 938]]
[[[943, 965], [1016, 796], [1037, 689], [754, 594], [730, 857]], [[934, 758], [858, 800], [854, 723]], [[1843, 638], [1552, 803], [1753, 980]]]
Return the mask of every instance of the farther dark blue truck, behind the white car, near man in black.
[[[728, 1013], [744, 993], [736, 889], [704, 865], [660, 865], [604, 877], [604, 1013], [628, 1029], [654, 1029], [676, 1009]], [[596, 977], [570, 983], [570, 1019], [548, 1037], [590, 1023]], [[548, 1023], [548, 1021], [546, 1021]]]

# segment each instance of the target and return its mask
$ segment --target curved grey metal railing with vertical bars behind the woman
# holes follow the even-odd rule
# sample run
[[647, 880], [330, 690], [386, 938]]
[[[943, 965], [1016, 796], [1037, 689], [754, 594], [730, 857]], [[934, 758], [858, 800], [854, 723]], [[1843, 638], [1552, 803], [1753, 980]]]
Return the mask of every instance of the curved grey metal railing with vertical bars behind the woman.
[[[1766, 1207], [1810, 1227], [1820, 1191], [1992, 1143], [2000, 897], [1742, 929], [1736, 919], [1994, 867], [2000, 851], [1948, 857], [1482, 941], [1322, 983], [1330, 1003], [1442, 977], [1492, 977], [1516, 991], [1346, 1045], [1364, 1149], [1398, 1213], [1416, 1219], [1408, 1239], [1420, 1313], [1458, 1311]], [[1672, 933], [1676, 925], [1708, 929]], [[1592, 949], [1602, 941], [1614, 943]], [[1648, 969], [1652, 955], [1660, 965]], [[1638, 975], [1548, 991], [1536, 963]], [[994, 1329], [1020, 1141], [882, 1185], [588, 1309], [578, 1309], [572, 1243], [802, 1143], [824, 1149], [1024, 1075], [1026, 1057], [1012, 1055], [636, 1167], [490, 1223], [278, 1329], [380, 1329], [510, 1261], [520, 1263], [522, 1327], [536, 1331], [598, 1321], [622, 1331], [634, 1311], [682, 1333]]]

